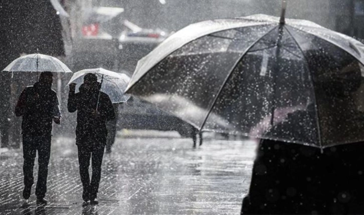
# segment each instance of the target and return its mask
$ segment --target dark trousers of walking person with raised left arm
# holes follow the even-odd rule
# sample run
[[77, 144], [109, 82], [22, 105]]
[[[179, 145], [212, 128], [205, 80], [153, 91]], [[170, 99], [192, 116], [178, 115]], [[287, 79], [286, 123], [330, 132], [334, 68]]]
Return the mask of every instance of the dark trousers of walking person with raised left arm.
[[[84, 201], [92, 200], [97, 197], [97, 192], [99, 189], [100, 179], [101, 179], [101, 164], [102, 157], [104, 155], [105, 140], [99, 142], [100, 140], [89, 138], [87, 141], [78, 142], [78, 163], [80, 167], [80, 176], [83, 186], [82, 198]], [[90, 166], [90, 160], [92, 162], [92, 178], [90, 179], [90, 174], [88, 168]]]

